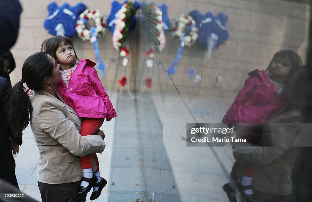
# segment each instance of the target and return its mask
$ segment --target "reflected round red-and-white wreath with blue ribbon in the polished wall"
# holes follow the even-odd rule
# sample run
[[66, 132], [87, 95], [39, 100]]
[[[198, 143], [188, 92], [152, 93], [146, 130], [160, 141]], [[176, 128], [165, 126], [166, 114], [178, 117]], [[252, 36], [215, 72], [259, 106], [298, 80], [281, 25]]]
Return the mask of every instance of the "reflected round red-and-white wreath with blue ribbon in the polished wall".
[[180, 47], [178, 48], [175, 60], [171, 67], [167, 69], [168, 75], [171, 77], [176, 72], [175, 65], [179, 62], [184, 46], [191, 47], [197, 40], [198, 28], [195, 20], [189, 15], [180, 15], [171, 23], [171, 35], [180, 40]]

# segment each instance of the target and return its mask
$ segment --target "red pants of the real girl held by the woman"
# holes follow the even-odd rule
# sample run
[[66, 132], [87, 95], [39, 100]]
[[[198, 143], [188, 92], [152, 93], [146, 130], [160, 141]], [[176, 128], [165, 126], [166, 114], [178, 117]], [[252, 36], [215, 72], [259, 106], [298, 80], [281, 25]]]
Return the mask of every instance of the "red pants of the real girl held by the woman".
[[[105, 120], [104, 118], [103, 119], [84, 118], [81, 124], [80, 135], [81, 136], [94, 135], [100, 129], [104, 120]], [[82, 169], [92, 168], [91, 155], [93, 155], [95, 159], [96, 171], [100, 170], [99, 159], [97, 158], [96, 154], [88, 154], [85, 156], [80, 156], [80, 163]]]

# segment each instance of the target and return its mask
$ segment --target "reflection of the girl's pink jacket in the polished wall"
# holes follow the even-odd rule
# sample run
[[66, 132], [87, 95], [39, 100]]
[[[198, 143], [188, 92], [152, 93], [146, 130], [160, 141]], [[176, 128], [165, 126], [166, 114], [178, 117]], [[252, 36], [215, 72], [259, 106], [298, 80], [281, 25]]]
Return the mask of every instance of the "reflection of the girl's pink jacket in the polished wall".
[[222, 123], [265, 123], [285, 106], [284, 95], [276, 98], [265, 71], [256, 69], [248, 75], [250, 77], [227, 110]]

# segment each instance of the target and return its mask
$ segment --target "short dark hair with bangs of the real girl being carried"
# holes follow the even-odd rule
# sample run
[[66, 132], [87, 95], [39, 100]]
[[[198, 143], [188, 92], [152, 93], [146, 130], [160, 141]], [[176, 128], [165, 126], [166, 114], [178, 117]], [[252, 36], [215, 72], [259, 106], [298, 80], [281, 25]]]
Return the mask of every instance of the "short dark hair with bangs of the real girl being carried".
[[79, 62], [79, 58], [77, 57], [73, 41], [71, 41], [71, 39], [68, 37], [56, 35], [54, 37], [50, 37], [44, 40], [41, 44], [41, 51], [46, 52], [47, 54], [51, 55], [54, 58], [54, 60], [57, 60], [56, 50], [62, 45], [62, 42], [64, 42], [65, 45], [71, 45], [73, 47], [75, 59], [72, 62], [72, 65], [75, 66]]

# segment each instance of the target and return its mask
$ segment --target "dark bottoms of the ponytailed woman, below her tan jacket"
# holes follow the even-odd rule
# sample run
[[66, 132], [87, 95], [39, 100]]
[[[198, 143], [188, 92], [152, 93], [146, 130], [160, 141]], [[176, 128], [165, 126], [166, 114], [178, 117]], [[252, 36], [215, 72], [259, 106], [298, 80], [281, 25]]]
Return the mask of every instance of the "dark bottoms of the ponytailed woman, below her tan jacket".
[[58, 185], [38, 182], [42, 202], [68, 202], [70, 199], [85, 202], [87, 194], [76, 194], [79, 186], [80, 181]]

